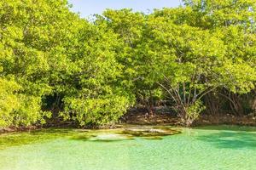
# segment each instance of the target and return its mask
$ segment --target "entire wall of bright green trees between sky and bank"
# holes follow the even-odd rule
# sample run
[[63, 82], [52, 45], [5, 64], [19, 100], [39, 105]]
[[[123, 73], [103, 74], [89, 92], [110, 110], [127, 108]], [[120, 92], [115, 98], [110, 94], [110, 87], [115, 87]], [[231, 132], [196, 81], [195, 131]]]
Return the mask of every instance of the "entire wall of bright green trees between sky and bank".
[[113, 124], [136, 100], [150, 113], [168, 100], [189, 125], [212, 91], [255, 91], [255, 1], [183, 3], [152, 14], [108, 9], [90, 23], [66, 0], [1, 1], [0, 127], [50, 113]]

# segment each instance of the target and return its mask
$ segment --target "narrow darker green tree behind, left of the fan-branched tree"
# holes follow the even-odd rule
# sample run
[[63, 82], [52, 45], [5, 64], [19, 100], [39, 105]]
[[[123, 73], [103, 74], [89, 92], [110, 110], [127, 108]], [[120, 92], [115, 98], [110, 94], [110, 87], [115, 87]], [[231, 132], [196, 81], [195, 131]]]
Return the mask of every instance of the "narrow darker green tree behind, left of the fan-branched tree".
[[123, 69], [123, 86], [134, 94], [137, 102], [144, 105], [149, 115], [153, 115], [154, 99], [160, 99], [160, 88], [152, 77], [154, 55], [148, 54], [148, 16], [133, 13], [131, 9], [111, 10], [98, 16], [96, 24], [105, 23], [108, 30], [118, 35], [117, 60]]

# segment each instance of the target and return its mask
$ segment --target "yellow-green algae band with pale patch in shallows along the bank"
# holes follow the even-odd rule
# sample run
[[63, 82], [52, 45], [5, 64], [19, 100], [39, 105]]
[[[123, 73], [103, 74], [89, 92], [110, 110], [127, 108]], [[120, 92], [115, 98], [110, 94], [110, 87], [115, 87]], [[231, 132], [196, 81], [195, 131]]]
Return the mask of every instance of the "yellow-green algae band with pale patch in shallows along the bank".
[[131, 126], [105, 130], [45, 128], [22, 133], [3, 133], [0, 135], [0, 150], [10, 146], [37, 144], [61, 138], [80, 141], [114, 142], [135, 138], [161, 139], [161, 136], [177, 133], [180, 132], [170, 127]]

